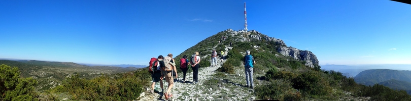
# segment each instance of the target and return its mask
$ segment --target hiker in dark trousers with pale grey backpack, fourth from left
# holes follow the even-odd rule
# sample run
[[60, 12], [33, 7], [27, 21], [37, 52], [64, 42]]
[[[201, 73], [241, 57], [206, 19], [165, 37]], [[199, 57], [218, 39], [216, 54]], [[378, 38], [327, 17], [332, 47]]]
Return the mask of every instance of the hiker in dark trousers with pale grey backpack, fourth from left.
[[191, 56], [191, 69], [193, 69], [193, 83], [197, 84], [198, 82], [198, 68], [200, 68], [200, 56], [198, 52], [195, 52]]

